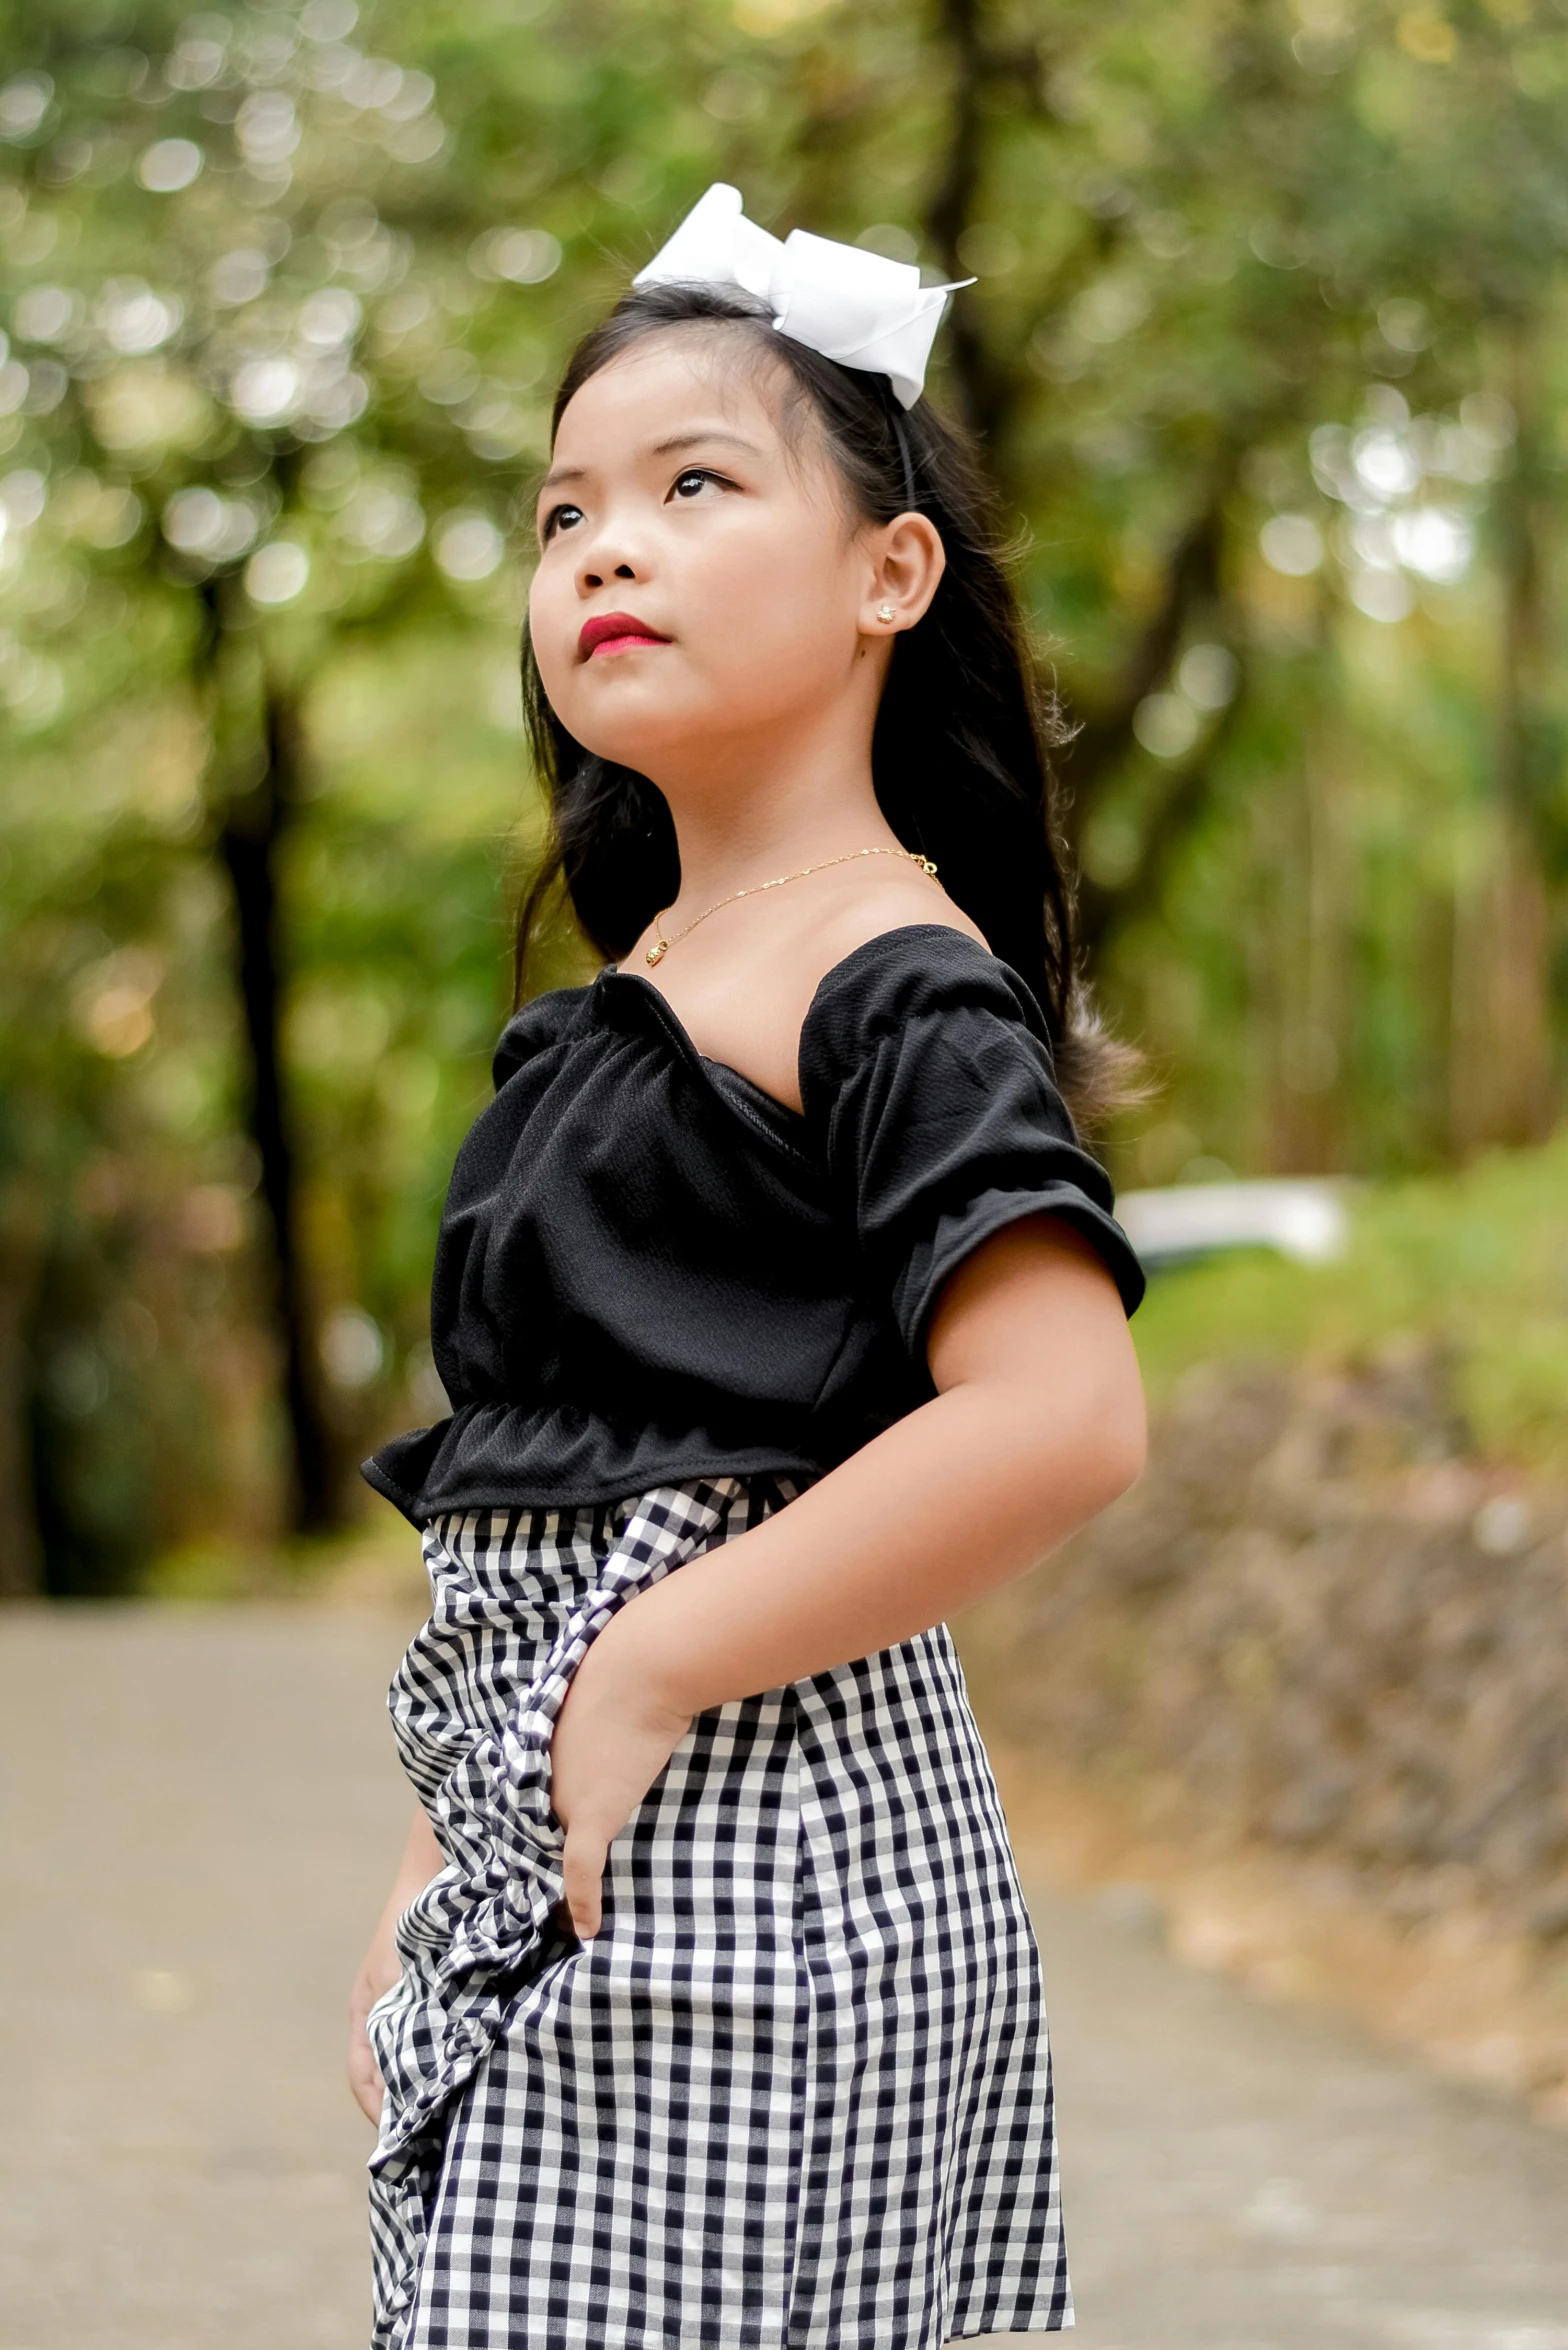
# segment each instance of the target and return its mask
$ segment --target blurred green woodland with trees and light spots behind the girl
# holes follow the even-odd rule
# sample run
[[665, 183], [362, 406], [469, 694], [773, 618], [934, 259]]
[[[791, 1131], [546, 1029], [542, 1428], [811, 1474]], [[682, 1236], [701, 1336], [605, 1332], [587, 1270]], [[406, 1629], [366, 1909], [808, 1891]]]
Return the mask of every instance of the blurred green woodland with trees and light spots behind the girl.
[[712, 179], [978, 273], [931, 388], [1079, 724], [1093, 971], [1164, 1086], [1119, 1180], [1549, 1133], [1559, 0], [0, 26], [5, 1589], [329, 1528], [444, 1410], [548, 397]]

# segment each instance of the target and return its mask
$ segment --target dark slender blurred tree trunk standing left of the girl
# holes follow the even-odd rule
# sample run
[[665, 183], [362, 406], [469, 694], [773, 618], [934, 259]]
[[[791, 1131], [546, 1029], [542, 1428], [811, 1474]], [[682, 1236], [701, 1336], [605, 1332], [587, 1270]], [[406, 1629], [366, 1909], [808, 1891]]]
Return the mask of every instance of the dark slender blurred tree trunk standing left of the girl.
[[235, 642], [237, 632], [226, 625], [223, 595], [214, 588], [216, 583], [209, 583], [205, 597], [214, 790], [221, 794], [216, 853], [235, 907], [235, 985], [249, 1058], [244, 1123], [256, 1144], [268, 1210], [266, 1285], [282, 1356], [289, 1426], [289, 1528], [313, 1535], [336, 1525], [341, 1509], [334, 1445], [322, 1412], [315, 1316], [301, 1246], [299, 1159], [282, 1069], [277, 858], [301, 797], [301, 728], [292, 693], [266, 667], [259, 684], [242, 689], [237, 672], [252, 670], [256, 656], [249, 642]]

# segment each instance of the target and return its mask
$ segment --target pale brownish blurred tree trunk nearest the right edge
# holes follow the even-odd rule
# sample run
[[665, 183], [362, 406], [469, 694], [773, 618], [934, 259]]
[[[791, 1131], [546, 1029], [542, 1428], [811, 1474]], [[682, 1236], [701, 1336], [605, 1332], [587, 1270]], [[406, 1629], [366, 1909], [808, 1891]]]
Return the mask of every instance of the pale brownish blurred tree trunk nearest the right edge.
[[1561, 743], [1547, 717], [1552, 660], [1540, 449], [1540, 352], [1530, 324], [1509, 336], [1519, 423], [1502, 484], [1502, 627], [1490, 825], [1483, 862], [1458, 877], [1453, 996], [1453, 1147], [1540, 1142], [1552, 1130], [1552, 900], [1544, 804]]

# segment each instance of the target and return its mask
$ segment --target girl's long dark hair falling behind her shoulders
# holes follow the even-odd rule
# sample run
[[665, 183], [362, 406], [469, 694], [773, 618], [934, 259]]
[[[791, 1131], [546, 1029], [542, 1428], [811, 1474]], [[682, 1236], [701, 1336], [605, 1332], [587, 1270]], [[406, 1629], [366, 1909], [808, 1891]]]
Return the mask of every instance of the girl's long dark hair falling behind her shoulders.
[[[891, 522], [914, 503], [947, 550], [924, 618], [893, 639], [877, 726], [877, 801], [905, 848], [936, 860], [950, 898], [1046, 1015], [1063, 1093], [1084, 1128], [1131, 1097], [1138, 1055], [1091, 1008], [1074, 968], [1072, 884], [1051, 750], [1070, 728], [1034, 674], [1006, 573], [1001, 517], [973, 446], [922, 397], [893, 409], [886, 376], [839, 367], [776, 334], [745, 294], [651, 284], [625, 294], [571, 352], [550, 442], [567, 402], [646, 334], [703, 324], [752, 336], [783, 369], [785, 437], [813, 416], [851, 505]], [[903, 444], [900, 444], [903, 435]], [[907, 456], [907, 470], [905, 470]], [[675, 900], [679, 853], [663, 792], [635, 768], [585, 750], [545, 700], [524, 630], [522, 700], [536, 773], [550, 804], [545, 858], [517, 919], [515, 1001], [564, 884], [581, 931], [618, 959]]]

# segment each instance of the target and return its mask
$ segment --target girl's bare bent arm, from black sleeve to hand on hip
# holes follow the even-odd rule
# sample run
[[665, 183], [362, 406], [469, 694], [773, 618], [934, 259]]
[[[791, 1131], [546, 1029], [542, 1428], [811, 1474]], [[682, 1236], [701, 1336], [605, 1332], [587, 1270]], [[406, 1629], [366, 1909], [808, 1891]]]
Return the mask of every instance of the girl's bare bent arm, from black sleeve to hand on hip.
[[693, 1713], [907, 1640], [1011, 1582], [1143, 1469], [1121, 1297], [1053, 1215], [983, 1241], [945, 1283], [936, 1398], [788, 1509], [639, 1591], [592, 1643], [552, 1741], [576, 1932], [609, 1840]]

